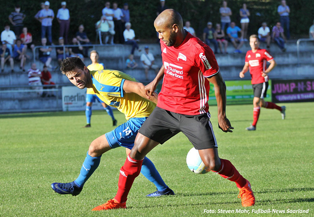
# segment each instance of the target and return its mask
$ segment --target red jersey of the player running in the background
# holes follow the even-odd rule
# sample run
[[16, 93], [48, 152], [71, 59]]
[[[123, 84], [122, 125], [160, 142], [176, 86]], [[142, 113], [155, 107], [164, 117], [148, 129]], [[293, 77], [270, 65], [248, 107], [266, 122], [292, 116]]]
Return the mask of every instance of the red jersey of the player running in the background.
[[272, 55], [266, 49], [258, 49], [255, 53], [246, 52], [245, 63], [249, 63], [252, 84], [260, 84], [268, 81], [268, 76], [263, 77], [266, 70], [266, 61], [273, 61]]

